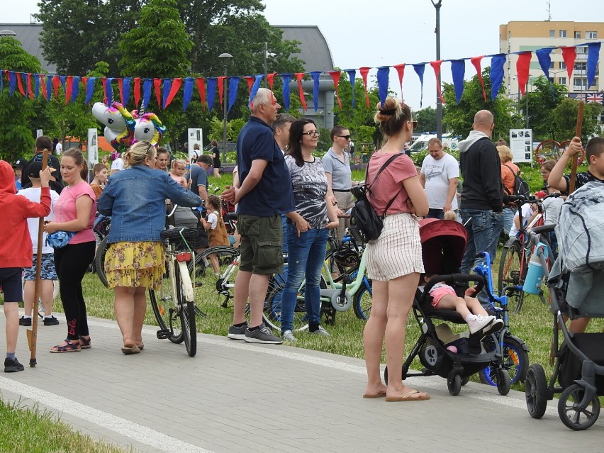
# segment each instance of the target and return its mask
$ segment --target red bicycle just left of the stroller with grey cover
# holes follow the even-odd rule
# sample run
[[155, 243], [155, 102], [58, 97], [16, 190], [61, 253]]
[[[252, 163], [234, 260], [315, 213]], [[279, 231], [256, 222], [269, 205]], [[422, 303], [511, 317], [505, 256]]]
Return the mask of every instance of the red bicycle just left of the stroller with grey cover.
[[[522, 208], [518, 208], [518, 220], [520, 220], [520, 230], [517, 237], [510, 237], [505, 243], [499, 259], [498, 269], [498, 292], [503, 295], [504, 289], [508, 291], [508, 298], [515, 301], [513, 313], [520, 313], [522, 302], [525, 298], [525, 292], [522, 291], [522, 285], [525, 281], [525, 276], [528, 270], [528, 262], [530, 255], [534, 251], [535, 244], [530, 240], [530, 231], [535, 233], [550, 233], [554, 230], [554, 225], [543, 225], [543, 206], [542, 201], [545, 198], [557, 197], [560, 194], [549, 194], [542, 199], [539, 198], [524, 198], [522, 196], [510, 196], [520, 204], [535, 203], [537, 205], [537, 216], [528, 225], [522, 226]], [[544, 242], [547, 242], [549, 250], [548, 266], [554, 262], [552, 247], [549, 247], [548, 237], [543, 237]], [[543, 303], [547, 303], [543, 292], [539, 294], [539, 299]]]

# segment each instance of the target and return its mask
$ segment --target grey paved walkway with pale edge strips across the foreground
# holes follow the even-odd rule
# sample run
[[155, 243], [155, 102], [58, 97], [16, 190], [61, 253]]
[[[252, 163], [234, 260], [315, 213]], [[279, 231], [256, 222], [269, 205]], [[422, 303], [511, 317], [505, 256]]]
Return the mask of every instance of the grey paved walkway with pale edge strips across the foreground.
[[[57, 317], [60, 317], [57, 316]], [[4, 319], [0, 330], [4, 337]], [[50, 354], [61, 325], [40, 325], [38, 366], [1, 374], [3, 398], [47, 408], [77, 430], [137, 452], [588, 452], [601, 451], [604, 416], [584, 432], [542, 420], [524, 394], [469, 383], [450, 396], [445, 379], [408, 379], [430, 401], [364, 399], [364, 362], [286, 346], [198, 335], [198, 352], [157, 340], [121, 354], [113, 321], [90, 320], [92, 349]], [[17, 357], [28, 364], [26, 329]], [[360, 341], [360, 339], [359, 339]], [[67, 385], [66, 385], [67, 384]]]

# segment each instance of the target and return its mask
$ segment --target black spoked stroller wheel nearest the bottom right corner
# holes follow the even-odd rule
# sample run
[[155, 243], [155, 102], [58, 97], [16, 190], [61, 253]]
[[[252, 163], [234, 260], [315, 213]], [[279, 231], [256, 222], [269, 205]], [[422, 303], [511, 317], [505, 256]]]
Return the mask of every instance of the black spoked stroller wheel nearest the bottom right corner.
[[588, 405], [581, 407], [585, 389], [578, 384], [564, 388], [558, 401], [558, 415], [571, 430], [582, 431], [591, 427], [600, 415], [600, 400], [594, 395]]

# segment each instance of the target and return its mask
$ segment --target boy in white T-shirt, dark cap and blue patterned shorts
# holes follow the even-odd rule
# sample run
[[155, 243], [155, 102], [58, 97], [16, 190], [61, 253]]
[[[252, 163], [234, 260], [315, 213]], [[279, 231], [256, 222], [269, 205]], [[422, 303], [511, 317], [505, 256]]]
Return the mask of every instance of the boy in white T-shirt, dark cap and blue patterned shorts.
[[[27, 189], [21, 189], [17, 192], [17, 195], [26, 197], [29, 201], [38, 203], [40, 201], [40, 193], [42, 191], [42, 184], [40, 182], [40, 170], [42, 169], [42, 162], [33, 162], [28, 167], [28, 177], [31, 181], [32, 186]], [[54, 190], [50, 190], [50, 214], [44, 218], [44, 220], [53, 220], [55, 218], [53, 208], [55, 203], [59, 199], [59, 194]], [[46, 244], [47, 233], [42, 235], [42, 244], [38, 244], [38, 219], [28, 218], [27, 220], [29, 235], [31, 243], [33, 245], [33, 255], [38, 252], [38, 247], [42, 247], [42, 265], [40, 267], [40, 298], [42, 299], [42, 305], [44, 307], [44, 325], [57, 325], [59, 320], [52, 316], [52, 301], [55, 298], [55, 284], [53, 281], [57, 280], [57, 272], [55, 270], [55, 250]], [[31, 325], [31, 311], [35, 305], [34, 299], [34, 288], [35, 288], [35, 269], [36, 263], [34, 262], [31, 267], [26, 267], [23, 272], [23, 306], [25, 308], [25, 314], [19, 319], [19, 325]]]

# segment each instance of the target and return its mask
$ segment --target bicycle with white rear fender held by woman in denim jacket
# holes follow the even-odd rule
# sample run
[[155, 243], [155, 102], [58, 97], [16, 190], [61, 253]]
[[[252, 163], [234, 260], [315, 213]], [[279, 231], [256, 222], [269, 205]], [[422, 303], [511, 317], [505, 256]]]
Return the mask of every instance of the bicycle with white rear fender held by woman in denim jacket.
[[[174, 214], [176, 205], [168, 217]], [[197, 352], [195, 323], [195, 293], [187, 262], [195, 262], [195, 228], [167, 228], [160, 233], [167, 257], [167, 269], [159, 290], [149, 290], [149, 299], [157, 325], [157, 338], [173, 343], [184, 342], [186, 352], [194, 357]], [[193, 272], [194, 274], [194, 272]]]

